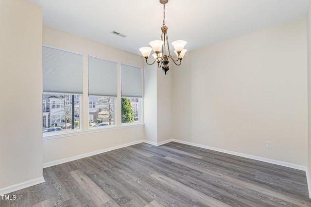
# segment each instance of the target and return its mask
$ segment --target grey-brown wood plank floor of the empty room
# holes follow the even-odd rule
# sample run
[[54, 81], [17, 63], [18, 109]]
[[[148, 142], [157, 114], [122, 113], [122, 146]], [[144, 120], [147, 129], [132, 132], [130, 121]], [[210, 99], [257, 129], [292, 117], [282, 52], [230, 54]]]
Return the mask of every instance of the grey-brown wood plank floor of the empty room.
[[43, 176], [0, 207], [311, 207], [304, 171], [180, 143], [140, 143]]

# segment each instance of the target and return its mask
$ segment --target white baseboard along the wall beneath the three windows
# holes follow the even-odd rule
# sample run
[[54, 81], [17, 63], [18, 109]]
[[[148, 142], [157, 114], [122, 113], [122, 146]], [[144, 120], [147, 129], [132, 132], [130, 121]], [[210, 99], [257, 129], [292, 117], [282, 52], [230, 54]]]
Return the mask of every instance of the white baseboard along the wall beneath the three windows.
[[106, 148], [106, 149], [101, 149], [101, 150], [98, 150], [98, 151], [89, 152], [89, 153], [82, 154], [82, 155], [77, 155], [77, 156], [73, 156], [73, 157], [69, 157], [69, 158], [65, 158], [65, 159], [59, 159], [59, 160], [55, 160], [55, 161], [52, 161], [52, 162], [47, 162], [47, 163], [43, 164], [43, 168], [47, 168], [47, 167], [51, 167], [51, 166], [54, 166], [54, 165], [63, 164], [63, 163], [66, 163], [66, 162], [77, 160], [77, 159], [87, 158], [87, 157], [90, 157], [90, 156], [93, 156], [93, 155], [98, 155], [98, 154], [101, 154], [101, 153], [104, 153], [104, 152], [109, 152], [111, 150], [120, 149], [120, 148], [123, 148], [123, 147], [131, 146], [131, 145], [138, 144], [138, 143], [143, 143], [143, 142], [144, 142], [144, 140], [139, 140], [139, 141], [136, 141], [136, 142], [125, 143], [125, 144], [121, 144], [121, 145], [118, 145], [118, 146], [109, 147], [109, 148]]

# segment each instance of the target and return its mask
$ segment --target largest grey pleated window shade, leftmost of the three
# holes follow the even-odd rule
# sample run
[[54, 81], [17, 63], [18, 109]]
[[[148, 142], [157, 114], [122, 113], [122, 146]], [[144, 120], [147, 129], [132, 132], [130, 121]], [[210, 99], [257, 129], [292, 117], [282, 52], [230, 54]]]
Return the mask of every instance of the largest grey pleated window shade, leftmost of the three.
[[83, 55], [43, 46], [43, 92], [83, 94]]

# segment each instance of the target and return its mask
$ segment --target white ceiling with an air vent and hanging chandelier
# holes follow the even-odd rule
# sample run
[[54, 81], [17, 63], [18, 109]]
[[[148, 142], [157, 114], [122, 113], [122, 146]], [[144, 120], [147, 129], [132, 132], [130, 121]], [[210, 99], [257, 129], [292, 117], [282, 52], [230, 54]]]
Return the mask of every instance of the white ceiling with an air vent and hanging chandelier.
[[[159, 0], [29, 0], [43, 7], [43, 24], [115, 48], [138, 48], [160, 39]], [[307, 15], [310, 0], [169, 0], [169, 42], [186, 40], [189, 51]], [[112, 34], [116, 31], [125, 38]]]

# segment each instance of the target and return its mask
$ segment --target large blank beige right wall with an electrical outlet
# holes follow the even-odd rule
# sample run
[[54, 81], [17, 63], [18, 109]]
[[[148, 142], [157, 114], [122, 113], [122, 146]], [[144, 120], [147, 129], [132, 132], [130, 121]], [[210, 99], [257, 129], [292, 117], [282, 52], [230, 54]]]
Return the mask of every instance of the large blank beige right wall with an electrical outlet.
[[191, 136], [175, 127], [176, 138], [307, 166], [306, 44], [300, 19], [192, 51], [191, 78], [180, 72], [173, 87], [176, 97], [191, 81], [191, 104], [178, 101], [191, 105]]

